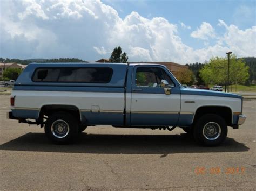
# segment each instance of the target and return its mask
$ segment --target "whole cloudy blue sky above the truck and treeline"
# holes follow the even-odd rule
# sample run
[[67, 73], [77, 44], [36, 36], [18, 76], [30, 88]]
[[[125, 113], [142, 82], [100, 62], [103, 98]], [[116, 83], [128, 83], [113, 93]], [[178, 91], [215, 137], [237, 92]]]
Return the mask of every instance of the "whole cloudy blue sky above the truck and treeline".
[[0, 0], [0, 57], [205, 62], [256, 56], [256, 1]]

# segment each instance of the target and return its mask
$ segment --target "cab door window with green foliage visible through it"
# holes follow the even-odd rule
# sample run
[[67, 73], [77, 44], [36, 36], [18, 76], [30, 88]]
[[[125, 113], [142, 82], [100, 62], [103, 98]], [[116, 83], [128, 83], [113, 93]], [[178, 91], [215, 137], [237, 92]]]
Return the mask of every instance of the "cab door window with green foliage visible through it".
[[160, 88], [161, 80], [167, 80], [170, 87], [174, 84], [169, 75], [158, 67], [138, 67], [136, 70], [136, 86]]

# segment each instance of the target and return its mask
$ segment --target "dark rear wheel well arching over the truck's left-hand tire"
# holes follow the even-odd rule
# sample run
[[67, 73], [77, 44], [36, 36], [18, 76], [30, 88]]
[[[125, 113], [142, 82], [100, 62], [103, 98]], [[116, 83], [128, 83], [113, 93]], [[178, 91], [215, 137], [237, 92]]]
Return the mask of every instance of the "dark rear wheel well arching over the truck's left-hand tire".
[[39, 120], [43, 121], [44, 116], [50, 116], [51, 114], [59, 111], [69, 112], [80, 121], [80, 111], [74, 105], [44, 105], [39, 113]]

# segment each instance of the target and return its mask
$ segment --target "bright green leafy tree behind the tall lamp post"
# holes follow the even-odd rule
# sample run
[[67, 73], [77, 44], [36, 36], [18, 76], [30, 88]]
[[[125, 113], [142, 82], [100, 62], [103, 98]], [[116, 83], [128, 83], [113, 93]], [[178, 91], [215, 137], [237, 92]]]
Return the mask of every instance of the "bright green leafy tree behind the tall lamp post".
[[[200, 70], [200, 77], [206, 84], [227, 84], [227, 58], [211, 58], [203, 69]], [[230, 57], [230, 84], [244, 84], [249, 77], [248, 66], [242, 59], [237, 59], [236, 55]]]

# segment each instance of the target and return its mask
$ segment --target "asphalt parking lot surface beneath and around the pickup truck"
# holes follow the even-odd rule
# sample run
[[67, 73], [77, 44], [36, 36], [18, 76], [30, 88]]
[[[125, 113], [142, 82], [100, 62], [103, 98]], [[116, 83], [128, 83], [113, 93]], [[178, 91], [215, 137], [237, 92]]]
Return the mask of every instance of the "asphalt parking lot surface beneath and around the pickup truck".
[[183, 130], [90, 127], [73, 145], [53, 145], [38, 126], [6, 119], [0, 95], [1, 190], [254, 190], [256, 100], [247, 121], [229, 128], [218, 147], [203, 147]]

